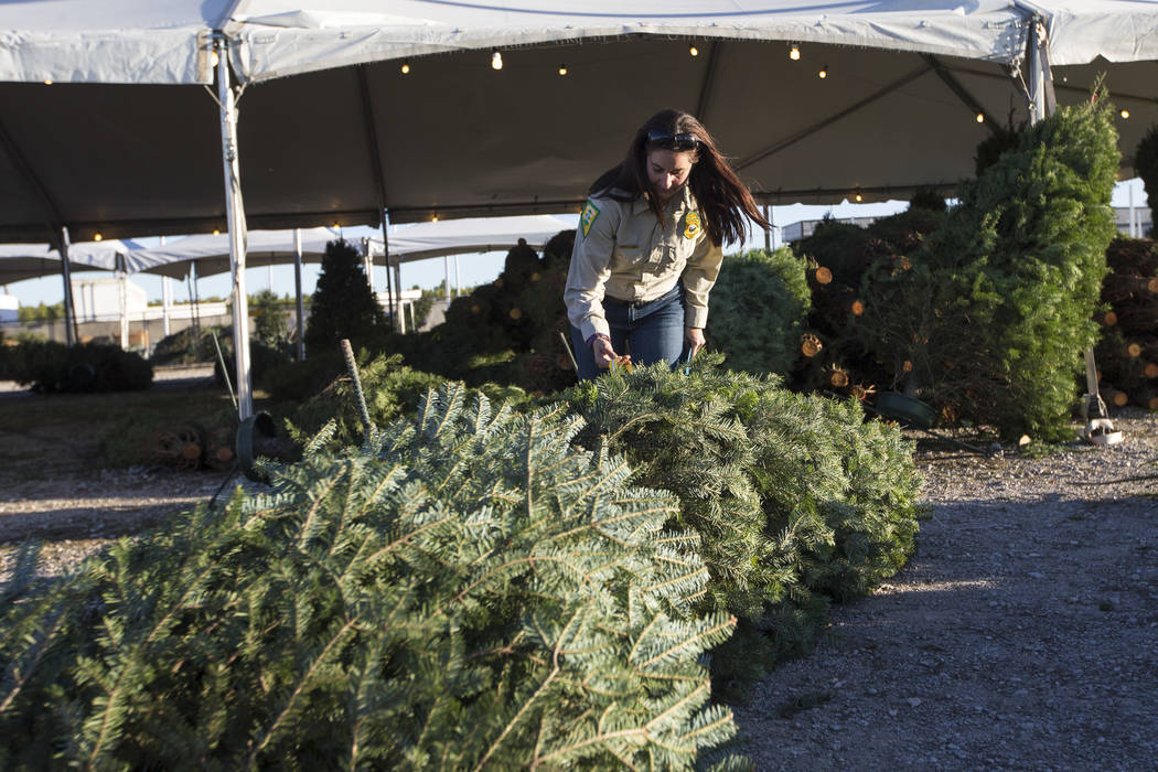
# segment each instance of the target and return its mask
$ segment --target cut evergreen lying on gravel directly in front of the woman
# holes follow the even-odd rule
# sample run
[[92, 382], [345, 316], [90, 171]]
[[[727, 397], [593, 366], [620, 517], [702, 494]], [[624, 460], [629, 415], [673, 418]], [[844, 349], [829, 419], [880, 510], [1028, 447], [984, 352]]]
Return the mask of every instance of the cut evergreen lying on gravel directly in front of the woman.
[[865, 594], [910, 554], [919, 477], [895, 427], [859, 403], [801, 396], [775, 377], [664, 365], [580, 383], [562, 399], [636, 480], [673, 491], [672, 525], [699, 534], [711, 572], [705, 611], [740, 618], [713, 653], [723, 678], [754, 678], [809, 646], [831, 600]]

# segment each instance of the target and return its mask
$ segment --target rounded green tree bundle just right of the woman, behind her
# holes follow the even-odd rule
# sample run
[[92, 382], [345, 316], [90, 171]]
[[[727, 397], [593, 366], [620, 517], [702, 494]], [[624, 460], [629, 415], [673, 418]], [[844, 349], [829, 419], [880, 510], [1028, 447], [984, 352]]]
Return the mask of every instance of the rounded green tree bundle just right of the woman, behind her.
[[728, 256], [712, 288], [705, 334], [731, 369], [786, 376], [800, 355], [809, 306], [804, 262], [791, 249]]

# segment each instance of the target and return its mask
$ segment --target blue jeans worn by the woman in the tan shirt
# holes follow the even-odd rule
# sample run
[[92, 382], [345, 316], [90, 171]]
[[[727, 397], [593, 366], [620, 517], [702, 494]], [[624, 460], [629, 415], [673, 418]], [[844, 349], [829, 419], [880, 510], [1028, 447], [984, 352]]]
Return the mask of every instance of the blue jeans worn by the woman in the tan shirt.
[[[646, 303], [603, 299], [603, 316], [611, 328], [616, 354], [631, 354], [632, 365], [667, 362], [683, 358], [683, 286]], [[579, 378], [589, 381], [604, 370], [595, 367], [595, 355], [578, 329], [571, 328], [571, 344], [579, 362]]]

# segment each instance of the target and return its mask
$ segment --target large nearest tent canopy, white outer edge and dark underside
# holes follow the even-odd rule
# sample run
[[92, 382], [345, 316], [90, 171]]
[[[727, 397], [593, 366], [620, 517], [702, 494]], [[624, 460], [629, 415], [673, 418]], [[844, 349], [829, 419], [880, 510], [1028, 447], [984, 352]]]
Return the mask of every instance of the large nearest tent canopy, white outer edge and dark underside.
[[[0, 241], [223, 229], [220, 116], [198, 86], [213, 30], [250, 83], [249, 226], [280, 229], [378, 225], [383, 209], [391, 222], [576, 212], [664, 106], [701, 117], [765, 201], [948, 191], [990, 127], [1026, 115], [1035, 13], [1051, 60], [1075, 65], [1057, 73], [1062, 103], [1109, 72], [1133, 113], [1119, 126], [1129, 171], [1158, 120], [1152, 2], [5, 2]], [[1097, 54], [1115, 64], [1077, 65]]]

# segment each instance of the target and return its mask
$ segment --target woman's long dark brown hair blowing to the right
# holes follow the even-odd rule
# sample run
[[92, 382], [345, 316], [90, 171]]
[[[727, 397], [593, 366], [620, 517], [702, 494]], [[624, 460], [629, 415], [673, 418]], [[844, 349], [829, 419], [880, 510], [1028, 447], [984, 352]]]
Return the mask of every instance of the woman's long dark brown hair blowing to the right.
[[[760, 207], [748, 186], [740, 182], [727, 159], [716, 147], [716, 140], [703, 124], [682, 110], [660, 110], [648, 118], [636, 131], [628, 155], [618, 166], [608, 169], [591, 186], [591, 194], [602, 193], [622, 201], [633, 201], [651, 190], [647, 179], [647, 153], [657, 148], [672, 148], [670, 141], [650, 142], [647, 135], [652, 132], [665, 134], [691, 134], [697, 140], [695, 150], [690, 150], [691, 174], [686, 183], [696, 197], [696, 203], [704, 215], [704, 228], [708, 237], [717, 247], [725, 241], [743, 243], [749, 234], [749, 225], [745, 215], [762, 228], [771, 225], [761, 214]], [[662, 220], [662, 212], [655, 196], [648, 196], [655, 216]]]

